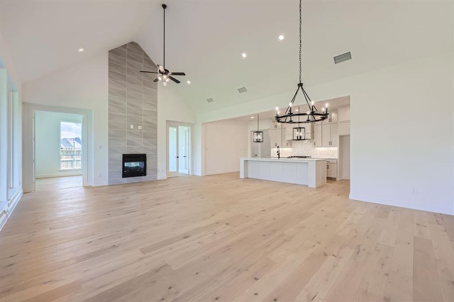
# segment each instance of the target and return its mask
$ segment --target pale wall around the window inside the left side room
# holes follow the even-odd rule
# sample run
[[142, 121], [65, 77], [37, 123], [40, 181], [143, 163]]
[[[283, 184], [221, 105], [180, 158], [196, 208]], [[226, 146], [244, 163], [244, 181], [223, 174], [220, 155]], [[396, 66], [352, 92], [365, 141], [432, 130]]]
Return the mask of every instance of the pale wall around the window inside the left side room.
[[35, 112], [36, 178], [82, 175], [82, 170], [60, 169], [60, 122], [82, 123], [82, 115], [60, 112]]

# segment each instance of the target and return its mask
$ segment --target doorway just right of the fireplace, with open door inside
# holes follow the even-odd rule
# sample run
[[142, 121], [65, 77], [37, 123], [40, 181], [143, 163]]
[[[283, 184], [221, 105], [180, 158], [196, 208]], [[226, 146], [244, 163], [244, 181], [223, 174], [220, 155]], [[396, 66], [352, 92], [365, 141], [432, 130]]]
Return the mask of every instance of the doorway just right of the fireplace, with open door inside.
[[191, 127], [167, 124], [167, 177], [189, 175]]

